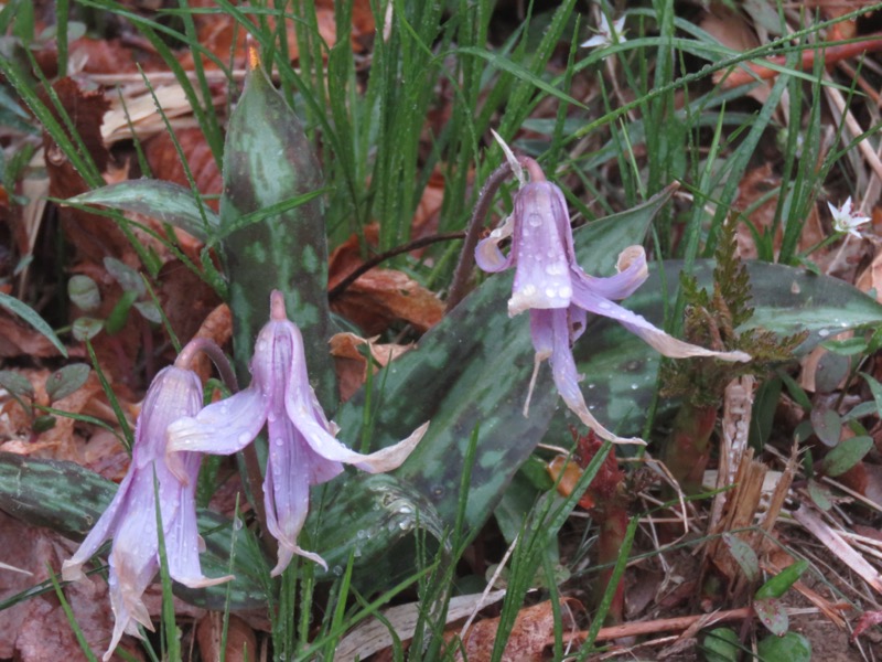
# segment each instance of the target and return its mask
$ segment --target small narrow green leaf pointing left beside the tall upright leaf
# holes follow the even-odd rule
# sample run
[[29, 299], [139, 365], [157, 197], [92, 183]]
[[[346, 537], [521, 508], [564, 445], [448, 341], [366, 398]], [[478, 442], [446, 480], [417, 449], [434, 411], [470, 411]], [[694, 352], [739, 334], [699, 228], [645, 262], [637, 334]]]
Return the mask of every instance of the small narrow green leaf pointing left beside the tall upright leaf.
[[207, 242], [220, 225], [217, 214], [211, 207], [200, 205], [192, 191], [158, 180], [119, 182], [76, 195], [67, 202], [137, 212], [180, 227], [202, 242]]

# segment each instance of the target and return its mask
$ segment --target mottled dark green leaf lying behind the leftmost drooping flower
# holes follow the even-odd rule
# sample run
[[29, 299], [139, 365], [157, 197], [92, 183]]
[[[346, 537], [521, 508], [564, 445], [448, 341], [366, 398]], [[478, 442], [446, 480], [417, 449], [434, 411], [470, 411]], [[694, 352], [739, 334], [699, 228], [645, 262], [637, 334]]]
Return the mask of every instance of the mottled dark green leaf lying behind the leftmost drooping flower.
[[[0, 510], [33, 526], [46, 526], [76, 541], [83, 540], [110, 504], [117, 485], [73, 462], [40, 460], [0, 452]], [[197, 511], [200, 532], [206, 551], [200, 556], [206, 576], [228, 574], [229, 520], [216, 513]], [[259, 568], [263, 560], [256, 555], [254, 534], [245, 527], [235, 531], [236, 558], [232, 586], [234, 609], [266, 606]], [[208, 609], [223, 609], [226, 586], [187, 589], [174, 586], [175, 594]]]

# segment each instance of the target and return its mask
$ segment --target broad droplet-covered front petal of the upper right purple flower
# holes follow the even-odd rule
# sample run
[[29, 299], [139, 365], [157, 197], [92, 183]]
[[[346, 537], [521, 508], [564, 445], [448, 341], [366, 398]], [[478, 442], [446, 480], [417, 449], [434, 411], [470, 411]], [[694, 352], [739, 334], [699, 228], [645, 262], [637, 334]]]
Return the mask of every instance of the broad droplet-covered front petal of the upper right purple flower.
[[572, 297], [572, 229], [563, 194], [550, 182], [518, 191], [512, 248], [517, 270], [508, 314], [527, 309], [567, 308]]

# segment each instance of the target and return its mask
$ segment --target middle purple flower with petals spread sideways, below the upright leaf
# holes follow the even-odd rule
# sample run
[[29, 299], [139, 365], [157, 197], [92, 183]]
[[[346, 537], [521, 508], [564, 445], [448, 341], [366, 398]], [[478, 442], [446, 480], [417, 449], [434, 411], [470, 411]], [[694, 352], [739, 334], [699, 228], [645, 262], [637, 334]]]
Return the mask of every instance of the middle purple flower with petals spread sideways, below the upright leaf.
[[428, 423], [404, 441], [362, 455], [337, 441], [306, 374], [303, 339], [288, 320], [279, 291], [270, 297], [270, 321], [260, 331], [251, 360], [251, 385], [208, 405], [194, 418], [169, 428], [168, 452], [179, 450], [229, 455], [245, 448], [267, 424], [269, 456], [263, 479], [267, 527], [279, 541], [279, 575], [294, 554], [327, 568], [318, 554], [297, 544], [309, 512], [310, 487], [326, 482], [355, 465], [368, 472], [395, 469], [426, 433]]

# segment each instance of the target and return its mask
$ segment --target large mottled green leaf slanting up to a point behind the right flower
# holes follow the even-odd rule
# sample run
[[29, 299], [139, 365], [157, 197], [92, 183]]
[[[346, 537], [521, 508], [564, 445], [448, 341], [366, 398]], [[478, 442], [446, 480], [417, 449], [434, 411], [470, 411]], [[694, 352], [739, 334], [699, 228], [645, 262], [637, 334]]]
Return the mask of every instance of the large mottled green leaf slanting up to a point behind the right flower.
[[[576, 233], [584, 250], [581, 265], [593, 274], [614, 268], [619, 253], [641, 243], [668, 190], [628, 212], [598, 221]], [[529, 417], [523, 409], [533, 372], [527, 316], [508, 317], [510, 274], [487, 278], [413, 350], [392, 362], [374, 382], [374, 446], [387, 446], [426, 420], [429, 430], [396, 476], [409, 480], [437, 508], [442, 521], [455, 521], [460, 480], [472, 431], [480, 427], [469, 490], [466, 524], [480, 526], [518, 467], [545, 436], [559, 406], [547, 367], [540, 371]], [[343, 430], [361, 429], [364, 389], [342, 408]]]

